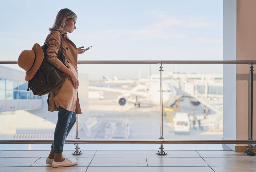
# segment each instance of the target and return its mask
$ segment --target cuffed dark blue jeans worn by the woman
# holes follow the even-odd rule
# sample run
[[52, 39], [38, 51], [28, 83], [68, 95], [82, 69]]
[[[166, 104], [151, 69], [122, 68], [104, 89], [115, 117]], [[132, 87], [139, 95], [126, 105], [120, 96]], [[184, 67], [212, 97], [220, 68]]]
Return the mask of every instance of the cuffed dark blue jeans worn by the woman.
[[54, 140], [51, 148], [54, 153], [63, 152], [64, 142], [70, 130], [76, 123], [76, 112], [68, 111], [59, 107], [58, 121], [54, 131]]

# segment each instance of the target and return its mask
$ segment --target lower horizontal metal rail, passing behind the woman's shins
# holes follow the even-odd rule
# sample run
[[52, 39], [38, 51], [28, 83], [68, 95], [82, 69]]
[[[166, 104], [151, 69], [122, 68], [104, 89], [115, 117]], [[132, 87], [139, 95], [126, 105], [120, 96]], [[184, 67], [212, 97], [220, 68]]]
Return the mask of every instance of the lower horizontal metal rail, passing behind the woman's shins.
[[[53, 140], [0, 140], [0, 144], [52, 144]], [[256, 140], [65, 140], [69, 144], [256, 144]]]

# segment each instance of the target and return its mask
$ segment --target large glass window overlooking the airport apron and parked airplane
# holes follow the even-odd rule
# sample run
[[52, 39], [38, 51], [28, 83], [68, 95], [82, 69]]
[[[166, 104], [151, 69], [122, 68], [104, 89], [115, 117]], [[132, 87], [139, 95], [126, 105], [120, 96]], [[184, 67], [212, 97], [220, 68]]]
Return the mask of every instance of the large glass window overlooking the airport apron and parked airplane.
[[[78, 60], [223, 59], [222, 0], [101, 0], [79, 1], [79, 5], [77, 2], [69, 3], [78, 17], [77, 29], [67, 35], [77, 47], [93, 45], [84, 54], [79, 54]], [[40, 7], [32, 0], [1, 3], [1, 16], [8, 16], [2, 23], [10, 28], [8, 32], [4, 27], [0, 28], [3, 33], [1, 56], [17, 60], [22, 50], [31, 50], [33, 42], [42, 46], [49, 34], [48, 28], [67, 3], [66, 0], [61, 3], [45, 0]], [[47, 13], [45, 9], [49, 9]], [[43, 13], [45, 15], [41, 15]], [[33, 24], [30, 20], [17, 19], [31, 19]], [[18, 65], [13, 66], [21, 70]], [[209, 75], [219, 74], [215, 77], [222, 80], [223, 66], [164, 64], [163, 67], [165, 139], [221, 139], [222, 114], [217, 113], [216, 108], [220, 110], [222, 107], [223, 92], [221, 84]], [[79, 64], [78, 72], [78, 95], [83, 113], [79, 116], [81, 139], [159, 138], [159, 65]], [[47, 112], [47, 95], [34, 96], [32, 91], [27, 91], [28, 83], [21, 79], [24, 73], [17, 75], [17, 79], [12, 76], [3, 76], [8, 80], [0, 79], [0, 99], [6, 100], [3, 101], [6, 107], [11, 101], [20, 103], [15, 107], [26, 109], [23, 115], [37, 120], [36, 124], [30, 122], [31, 130], [23, 130], [22, 134], [30, 137], [31, 132], [54, 133], [57, 112]], [[12, 75], [11, 71], [9, 75]], [[215, 101], [216, 95], [220, 103]], [[215, 111], [210, 110], [204, 102], [212, 106], [218, 103], [218, 107], [214, 106]], [[188, 118], [178, 119], [182, 115], [176, 113], [185, 113]], [[20, 122], [20, 125], [24, 123]], [[178, 130], [179, 127], [182, 129]], [[75, 134], [74, 127], [68, 139], [73, 139]], [[10, 139], [14, 136], [9, 135]], [[50, 134], [47, 137], [52, 139]]]

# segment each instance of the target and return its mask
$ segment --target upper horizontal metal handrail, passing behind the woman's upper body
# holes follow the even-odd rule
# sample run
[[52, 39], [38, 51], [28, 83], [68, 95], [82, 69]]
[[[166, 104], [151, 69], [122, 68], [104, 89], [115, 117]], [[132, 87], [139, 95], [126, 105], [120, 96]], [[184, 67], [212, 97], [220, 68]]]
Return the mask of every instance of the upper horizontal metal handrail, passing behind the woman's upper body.
[[[78, 64], [256, 64], [254, 60], [79, 60]], [[17, 61], [0, 61], [17, 64]]]

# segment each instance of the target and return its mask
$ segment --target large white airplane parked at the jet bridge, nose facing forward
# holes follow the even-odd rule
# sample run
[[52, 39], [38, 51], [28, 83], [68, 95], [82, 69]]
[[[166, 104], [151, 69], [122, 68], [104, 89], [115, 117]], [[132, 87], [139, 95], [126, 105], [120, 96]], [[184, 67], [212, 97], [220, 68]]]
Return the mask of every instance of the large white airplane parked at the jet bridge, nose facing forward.
[[[121, 95], [118, 96], [116, 101], [121, 106], [126, 105], [128, 102], [134, 102], [134, 106], [138, 105], [138, 107], [140, 107], [140, 103], [138, 102], [138, 97], [145, 97], [154, 105], [160, 105], [160, 83], [157, 81], [149, 81], [149, 82], [146, 82], [145, 85], [139, 84], [132, 90], [107, 88], [107, 87], [95, 87], [95, 86], [89, 86], [89, 89], [120, 93]], [[144, 90], [144, 91], [138, 91], [138, 90]], [[132, 96], [135, 96], [136, 99], [135, 100], [132, 99]], [[165, 107], [172, 106], [173, 104], [175, 104], [176, 100], [178, 100], [180, 97], [182, 97], [182, 95], [177, 95], [173, 85], [167, 82], [163, 82], [163, 106]]]

